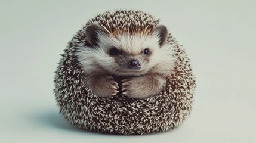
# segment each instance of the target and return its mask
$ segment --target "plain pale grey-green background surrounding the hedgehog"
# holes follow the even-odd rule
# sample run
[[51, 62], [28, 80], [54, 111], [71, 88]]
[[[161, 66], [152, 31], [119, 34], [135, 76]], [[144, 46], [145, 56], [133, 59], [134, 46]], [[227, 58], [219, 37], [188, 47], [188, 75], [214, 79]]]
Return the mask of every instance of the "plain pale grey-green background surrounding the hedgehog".
[[[256, 1], [0, 1], [0, 142], [256, 142]], [[73, 128], [53, 94], [60, 54], [82, 25], [144, 10], [192, 60], [192, 114], [175, 130], [106, 135]]]

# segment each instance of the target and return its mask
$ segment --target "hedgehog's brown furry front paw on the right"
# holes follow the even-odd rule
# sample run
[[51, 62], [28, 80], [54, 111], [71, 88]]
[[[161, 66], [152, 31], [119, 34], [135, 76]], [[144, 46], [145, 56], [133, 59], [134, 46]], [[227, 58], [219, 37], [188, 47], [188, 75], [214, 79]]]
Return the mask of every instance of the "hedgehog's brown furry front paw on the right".
[[152, 77], [132, 77], [122, 80], [122, 94], [131, 98], [146, 98], [159, 94], [164, 82]]

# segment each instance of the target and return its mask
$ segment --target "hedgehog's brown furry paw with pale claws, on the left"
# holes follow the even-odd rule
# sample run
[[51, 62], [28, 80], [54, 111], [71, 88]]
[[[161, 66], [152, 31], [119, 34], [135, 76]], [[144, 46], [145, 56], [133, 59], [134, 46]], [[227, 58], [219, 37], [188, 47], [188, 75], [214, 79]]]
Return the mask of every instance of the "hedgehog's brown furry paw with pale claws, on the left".
[[92, 91], [98, 97], [112, 97], [119, 92], [118, 83], [115, 82], [112, 76], [100, 77], [92, 87]]

